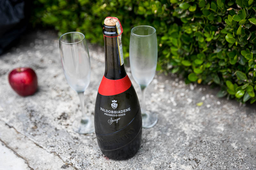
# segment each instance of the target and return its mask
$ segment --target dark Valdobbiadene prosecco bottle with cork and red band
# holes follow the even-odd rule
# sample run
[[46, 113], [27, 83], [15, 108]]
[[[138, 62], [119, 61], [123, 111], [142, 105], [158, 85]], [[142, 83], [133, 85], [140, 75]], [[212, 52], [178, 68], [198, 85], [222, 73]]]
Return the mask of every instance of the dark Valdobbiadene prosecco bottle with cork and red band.
[[128, 159], [140, 147], [140, 104], [124, 69], [122, 26], [115, 17], [104, 20], [105, 73], [96, 103], [94, 124], [101, 152], [109, 159]]

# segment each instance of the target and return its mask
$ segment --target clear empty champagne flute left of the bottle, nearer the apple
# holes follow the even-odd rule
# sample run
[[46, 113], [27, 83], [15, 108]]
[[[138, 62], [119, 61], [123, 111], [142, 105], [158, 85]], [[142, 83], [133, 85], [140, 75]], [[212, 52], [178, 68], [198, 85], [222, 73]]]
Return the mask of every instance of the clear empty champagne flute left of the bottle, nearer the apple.
[[80, 134], [94, 131], [92, 115], [84, 111], [84, 90], [90, 83], [91, 65], [89, 50], [84, 34], [78, 32], [65, 33], [60, 36], [60, 57], [62, 68], [68, 85], [77, 92], [82, 117], [73, 122], [73, 130]]

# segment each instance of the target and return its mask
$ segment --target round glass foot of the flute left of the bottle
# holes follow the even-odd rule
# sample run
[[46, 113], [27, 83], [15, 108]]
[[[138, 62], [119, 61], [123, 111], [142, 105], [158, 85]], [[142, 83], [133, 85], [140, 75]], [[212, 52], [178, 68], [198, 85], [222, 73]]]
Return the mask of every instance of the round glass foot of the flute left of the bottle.
[[79, 134], [87, 134], [94, 132], [94, 121], [93, 116], [88, 116], [84, 119], [76, 119], [73, 122], [72, 128]]

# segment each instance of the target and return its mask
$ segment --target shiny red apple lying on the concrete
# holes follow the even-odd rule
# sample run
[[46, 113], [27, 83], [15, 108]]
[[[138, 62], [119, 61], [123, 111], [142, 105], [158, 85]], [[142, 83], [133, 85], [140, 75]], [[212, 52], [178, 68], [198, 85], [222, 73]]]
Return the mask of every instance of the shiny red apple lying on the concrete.
[[32, 95], [37, 89], [37, 77], [34, 70], [28, 67], [13, 69], [8, 76], [12, 89], [21, 96]]

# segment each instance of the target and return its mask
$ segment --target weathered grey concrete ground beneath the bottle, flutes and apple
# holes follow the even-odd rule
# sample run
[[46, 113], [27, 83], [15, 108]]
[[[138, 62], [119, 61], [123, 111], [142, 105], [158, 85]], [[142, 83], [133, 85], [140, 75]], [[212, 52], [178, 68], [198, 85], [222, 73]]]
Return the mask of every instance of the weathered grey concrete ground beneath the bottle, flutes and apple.
[[[85, 107], [93, 114], [104, 73], [104, 51], [98, 46], [89, 50], [92, 76]], [[79, 135], [71, 128], [79, 115], [79, 99], [64, 77], [55, 33], [24, 36], [20, 45], [0, 56], [0, 65], [0, 139], [32, 168], [256, 170], [255, 105], [239, 106], [215, 97], [218, 90], [185, 85], [174, 75], [157, 75], [148, 87], [146, 104], [159, 121], [143, 129], [141, 148], [133, 158], [114, 161], [102, 155], [95, 134]], [[19, 66], [36, 70], [39, 90], [35, 95], [20, 97], [9, 86], [7, 75]], [[130, 69], [126, 70], [132, 78]], [[204, 104], [196, 106], [201, 101]], [[39, 150], [44, 153], [40, 158]]]

